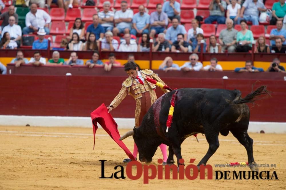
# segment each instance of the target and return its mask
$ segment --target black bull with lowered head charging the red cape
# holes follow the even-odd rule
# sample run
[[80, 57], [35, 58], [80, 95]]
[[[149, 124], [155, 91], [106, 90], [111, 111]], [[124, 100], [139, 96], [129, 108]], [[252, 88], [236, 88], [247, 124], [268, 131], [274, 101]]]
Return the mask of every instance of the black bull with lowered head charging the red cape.
[[227, 136], [230, 131], [246, 148], [251, 170], [258, 171], [253, 158], [253, 140], [247, 134], [250, 112], [245, 103], [253, 103], [259, 95], [269, 94], [266, 86], [259, 87], [245, 98], [241, 98], [241, 92], [238, 90], [178, 89], [173, 122], [166, 133], [166, 121], [174, 92], [166, 93], [157, 99], [144, 116], [140, 127], [120, 138], [123, 140], [133, 135], [141, 162], [151, 162], [158, 146], [163, 143], [169, 146], [167, 164], [174, 163], [174, 154], [179, 163], [182, 158], [182, 142], [188, 136], [203, 133], [209, 148], [197, 166], [205, 165], [219, 148], [219, 133]]

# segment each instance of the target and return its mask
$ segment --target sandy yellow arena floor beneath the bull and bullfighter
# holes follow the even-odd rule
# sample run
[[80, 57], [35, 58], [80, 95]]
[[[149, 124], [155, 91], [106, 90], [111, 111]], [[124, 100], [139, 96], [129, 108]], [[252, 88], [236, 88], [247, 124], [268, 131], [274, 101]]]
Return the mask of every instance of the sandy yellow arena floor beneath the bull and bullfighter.
[[[120, 134], [127, 131], [119, 130]], [[255, 161], [276, 164], [276, 167], [260, 167], [259, 171], [276, 171], [279, 180], [215, 180], [217, 170], [250, 171], [215, 167], [215, 164], [247, 161], [245, 148], [230, 133], [227, 137], [219, 136], [220, 147], [208, 161], [214, 170], [212, 180], [153, 179], [149, 184], [143, 184], [143, 177], [99, 179], [99, 160], [107, 160], [105, 175], [110, 176], [119, 170], [114, 170], [116, 165], [126, 168], [122, 160], [127, 156], [103, 129], [97, 135], [93, 150], [92, 128], [0, 126], [0, 189], [286, 189], [286, 134], [249, 134], [254, 140]], [[182, 144], [182, 157], [187, 161], [196, 158], [194, 164], [208, 149], [205, 137], [199, 134], [198, 138], [199, 143], [191, 136]], [[131, 151], [133, 142], [131, 137], [124, 140]], [[159, 148], [153, 164], [157, 164], [158, 158], [161, 158]]]

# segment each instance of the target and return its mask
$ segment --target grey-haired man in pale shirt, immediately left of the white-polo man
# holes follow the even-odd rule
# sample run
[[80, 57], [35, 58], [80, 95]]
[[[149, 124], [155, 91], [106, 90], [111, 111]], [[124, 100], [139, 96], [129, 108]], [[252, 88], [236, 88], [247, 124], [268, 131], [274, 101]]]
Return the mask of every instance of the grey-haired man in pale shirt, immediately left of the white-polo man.
[[113, 11], [110, 11], [110, 1], [104, 1], [103, 11], [100, 11], [98, 13], [98, 17], [99, 17], [99, 23], [104, 28], [104, 32], [112, 31], [114, 13]]

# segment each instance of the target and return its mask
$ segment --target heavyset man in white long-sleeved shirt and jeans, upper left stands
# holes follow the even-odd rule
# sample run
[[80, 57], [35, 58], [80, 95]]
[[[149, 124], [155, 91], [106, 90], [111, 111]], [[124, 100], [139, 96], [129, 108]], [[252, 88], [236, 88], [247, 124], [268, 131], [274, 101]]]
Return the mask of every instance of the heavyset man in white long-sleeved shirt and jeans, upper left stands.
[[32, 3], [30, 12], [26, 15], [26, 27], [23, 28], [23, 34], [29, 34], [44, 28], [47, 34], [50, 33], [49, 23], [51, 23], [50, 15], [41, 9], [37, 10], [37, 4]]

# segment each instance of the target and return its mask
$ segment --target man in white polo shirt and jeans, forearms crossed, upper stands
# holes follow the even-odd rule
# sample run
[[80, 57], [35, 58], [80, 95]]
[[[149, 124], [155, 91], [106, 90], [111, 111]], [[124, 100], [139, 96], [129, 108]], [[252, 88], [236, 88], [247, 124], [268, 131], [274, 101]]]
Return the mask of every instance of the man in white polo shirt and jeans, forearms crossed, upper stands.
[[121, 1], [121, 10], [116, 11], [114, 15], [114, 22], [116, 27], [113, 28], [113, 36], [120, 33], [129, 34], [132, 26], [133, 11], [127, 9], [127, 2]]

